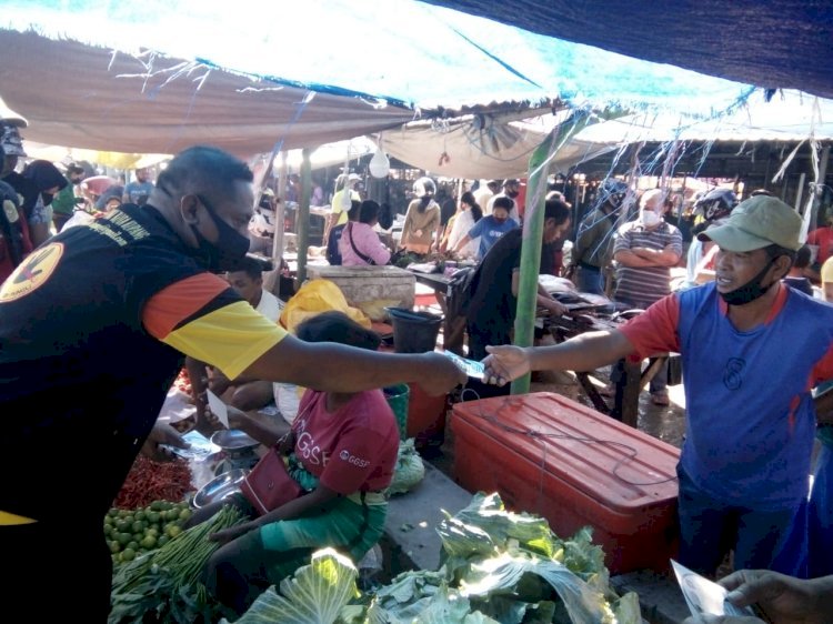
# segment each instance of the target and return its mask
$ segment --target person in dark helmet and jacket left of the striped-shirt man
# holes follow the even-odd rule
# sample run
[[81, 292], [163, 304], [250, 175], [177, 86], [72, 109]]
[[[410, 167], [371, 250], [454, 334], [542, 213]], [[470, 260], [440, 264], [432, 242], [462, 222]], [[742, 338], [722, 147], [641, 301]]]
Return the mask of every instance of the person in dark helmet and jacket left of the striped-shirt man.
[[599, 188], [596, 208], [579, 224], [566, 274], [580, 292], [604, 294], [604, 271], [613, 258], [613, 234], [626, 195], [624, 182], [608, 178]]

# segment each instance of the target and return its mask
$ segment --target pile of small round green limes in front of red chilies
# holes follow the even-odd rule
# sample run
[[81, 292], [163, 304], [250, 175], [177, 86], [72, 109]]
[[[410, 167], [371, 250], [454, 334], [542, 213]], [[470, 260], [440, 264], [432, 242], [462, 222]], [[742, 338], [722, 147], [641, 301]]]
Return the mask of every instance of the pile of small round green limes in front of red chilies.
[[104, 517], [104, 535], [116, 565], [164, 546], [182, 533], [191, 517], [187, 503], [153, 501], [138, 510], [111, 509]]

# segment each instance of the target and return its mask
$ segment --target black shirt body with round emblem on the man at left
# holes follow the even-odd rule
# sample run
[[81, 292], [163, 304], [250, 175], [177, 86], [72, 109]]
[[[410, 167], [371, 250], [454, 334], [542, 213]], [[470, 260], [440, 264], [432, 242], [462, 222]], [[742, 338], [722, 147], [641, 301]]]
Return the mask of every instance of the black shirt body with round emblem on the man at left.
[[9, 276], [0, 510], [43, 520], [109, 509], [183, 360], [144, 329], [144, 304], [203, 272], [155, 209], [128, 205], [57, 234]]

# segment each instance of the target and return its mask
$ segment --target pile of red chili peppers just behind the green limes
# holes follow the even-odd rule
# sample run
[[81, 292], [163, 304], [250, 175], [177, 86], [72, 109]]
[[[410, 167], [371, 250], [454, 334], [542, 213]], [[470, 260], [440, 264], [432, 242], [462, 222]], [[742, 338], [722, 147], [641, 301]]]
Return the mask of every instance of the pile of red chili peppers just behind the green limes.
[[179, 503], [192, 491], [191, 470], [187, 461], [175, 457], [170, 462], [154, 462], [138, 455], [113, 505], [138, 510], [153, 501]]

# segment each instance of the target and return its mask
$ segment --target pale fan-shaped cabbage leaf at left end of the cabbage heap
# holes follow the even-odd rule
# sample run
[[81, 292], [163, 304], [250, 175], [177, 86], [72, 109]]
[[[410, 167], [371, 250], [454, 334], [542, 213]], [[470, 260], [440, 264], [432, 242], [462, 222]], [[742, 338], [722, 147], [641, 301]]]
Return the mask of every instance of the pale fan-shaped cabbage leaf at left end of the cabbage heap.
[[[263, 592], [237, 624], [332, 624], [358, 595], [355, 566], [332, 548], [317, 551], [292, 578]], [[227, 623], [225, 620], [222, 621]]]

